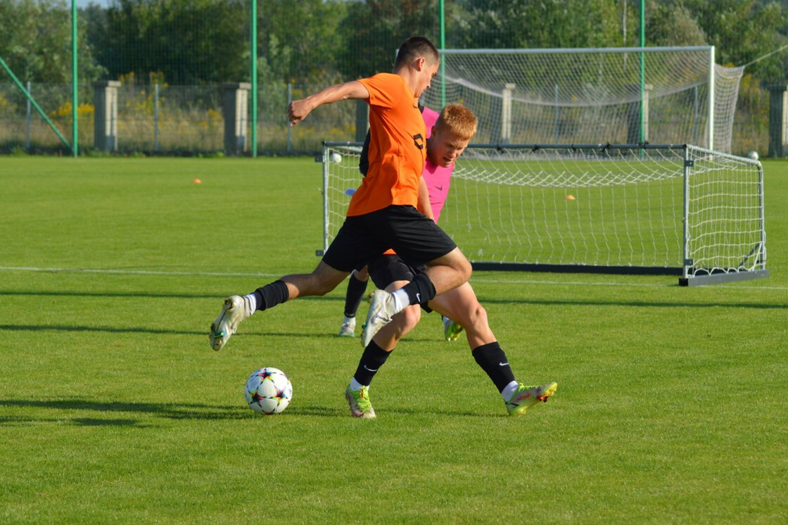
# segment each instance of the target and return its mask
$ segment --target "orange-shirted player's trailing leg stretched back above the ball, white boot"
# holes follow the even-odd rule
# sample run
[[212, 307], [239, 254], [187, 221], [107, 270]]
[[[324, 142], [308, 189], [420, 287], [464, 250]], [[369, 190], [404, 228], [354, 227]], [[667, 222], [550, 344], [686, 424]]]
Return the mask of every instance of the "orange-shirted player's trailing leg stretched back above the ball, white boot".
[[208, 339], [211, 348], [221, 350], [236, 333], [240, 322], [255, 311], [266, 310], [297, 297], [325, 295], [335, 289], [348, 273], [321, 261], [311, 274], [285, 275], [246, 296], [229, 296], [210, 326]]

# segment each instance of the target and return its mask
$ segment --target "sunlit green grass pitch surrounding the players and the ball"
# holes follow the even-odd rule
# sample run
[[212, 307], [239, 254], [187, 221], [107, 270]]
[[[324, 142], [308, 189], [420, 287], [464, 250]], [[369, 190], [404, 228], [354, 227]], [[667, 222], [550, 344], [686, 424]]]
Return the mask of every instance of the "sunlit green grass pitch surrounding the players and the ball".
[[[318, 262], [311, 158], [0, 158], [0, 522], [786, 523], [788, 162], [764, 166], [768, 279], [478, 272], [556, 396], [508, 418], [426, 315], [366, 421], [344, 285], [207, 342], [226, 295]], [[282, 415], [244, 404], [262, 366]]]

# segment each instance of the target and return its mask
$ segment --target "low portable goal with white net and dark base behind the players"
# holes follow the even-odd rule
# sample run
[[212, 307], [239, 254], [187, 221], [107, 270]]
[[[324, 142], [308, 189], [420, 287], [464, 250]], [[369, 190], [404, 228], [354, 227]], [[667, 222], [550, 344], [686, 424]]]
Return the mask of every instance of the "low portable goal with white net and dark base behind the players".
[[[324, 143], [324, 250], [360, 151]], [[471, 144], [440, 225], [478, 270], [768, 276], [760, 162], [694, 146]]]

